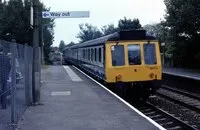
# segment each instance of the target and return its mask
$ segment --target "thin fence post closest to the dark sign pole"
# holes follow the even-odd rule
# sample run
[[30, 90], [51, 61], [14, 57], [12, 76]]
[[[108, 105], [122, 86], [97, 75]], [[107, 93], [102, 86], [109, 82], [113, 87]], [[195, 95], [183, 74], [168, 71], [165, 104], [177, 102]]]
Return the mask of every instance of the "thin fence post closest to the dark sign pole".
[[25, 97], [26, 97], [26, 104], [30, 105], [30, 87], [29, 87], [29, 59], [28, 59], [28, 44], [25, 43], [24, 45], [24, 62], [25, 62]]

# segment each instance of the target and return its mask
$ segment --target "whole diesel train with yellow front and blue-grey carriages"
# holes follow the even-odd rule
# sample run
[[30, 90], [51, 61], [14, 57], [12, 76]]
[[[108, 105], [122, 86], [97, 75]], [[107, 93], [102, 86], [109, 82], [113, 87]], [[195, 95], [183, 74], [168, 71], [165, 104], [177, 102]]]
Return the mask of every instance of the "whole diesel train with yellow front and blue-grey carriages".
[[158, 40], [145, 30], [119, 31], [64, 49], [64, 60], [129, 99], [146, 101], [160, 86]]

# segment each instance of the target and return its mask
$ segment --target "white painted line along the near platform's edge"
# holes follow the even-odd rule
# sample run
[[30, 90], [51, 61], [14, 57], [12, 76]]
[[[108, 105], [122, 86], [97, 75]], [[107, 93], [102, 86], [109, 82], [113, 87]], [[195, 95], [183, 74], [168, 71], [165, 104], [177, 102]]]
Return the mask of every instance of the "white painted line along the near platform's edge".
[[133, 107], [132, 105], [130, 105], [128, 102], [126, 102], [124, 99], [122, 99], [121, 97], [119, 97], [118, 95], [116, 95], [115, 93], [113, 93], [112, 91], [110, 91], [109, 89], [107, 89], [105, 86], [103, 86], [102, 84], [100, 84], [99, 82], [97, 82], [96, 80], [94, 80], [92, 77], [90, 77], [89, 75], [87, 75], [86, 73], [84, 73], [82, 70], [78, 69], [77, 67], [73, 66], [75, 69], [77, 69], [78, 71], [80, 71], [82, 74], [84, 74], [85, 76], [87, 76], [89, 79], [91, 79], [92, 81], [94, 81], [95, 83], [97, 83], [99, 86], [101, 86], [102, 88], [104, 88], [105, 90], [107, 90], [109, 93], [111, 93], [113, 96], [115, 96], [116, 98], [118, 98], [120, 101], [122, 101], [124, 104], [126, 104], [128, 107], [130, 107], [132, 110], [134, 110], [136, 113], [138, 113], [139, 115], [141, 115], [142, 117], [144, 117], [145, 119], [147, 119], [149, 122], [151, 122], [152, 124], [154, 124], [157, 128], [159, 128], [160, 130], [166, 130], [165, 128], [163, 128], [161, 125], [159, 125], [158, 123], [156, 123], [154, 120], [152, 120], [151, 118], [149, 118], [148, 116], [144, 115], [142, 112], [140, 112], [138, 109], [136, 109], [135, 107]]

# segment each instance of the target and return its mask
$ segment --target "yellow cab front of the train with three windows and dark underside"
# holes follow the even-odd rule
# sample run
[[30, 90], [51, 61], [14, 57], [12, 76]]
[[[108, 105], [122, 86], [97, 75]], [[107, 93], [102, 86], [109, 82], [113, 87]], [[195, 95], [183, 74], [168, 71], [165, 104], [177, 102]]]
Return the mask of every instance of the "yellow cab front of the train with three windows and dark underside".
[[144, 95], [160, 87], [162, 68], [157, 41], [110, 42], [106, 54], [108, 83]]

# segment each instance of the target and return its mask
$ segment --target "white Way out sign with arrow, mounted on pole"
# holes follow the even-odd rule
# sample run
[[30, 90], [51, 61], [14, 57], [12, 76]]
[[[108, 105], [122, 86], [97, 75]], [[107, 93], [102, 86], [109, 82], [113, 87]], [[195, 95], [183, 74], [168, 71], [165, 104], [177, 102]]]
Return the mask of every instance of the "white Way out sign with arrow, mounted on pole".
[[43, 18], [86, 18], [89, 16], [89, 11], [42, 12]]

